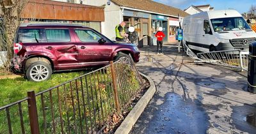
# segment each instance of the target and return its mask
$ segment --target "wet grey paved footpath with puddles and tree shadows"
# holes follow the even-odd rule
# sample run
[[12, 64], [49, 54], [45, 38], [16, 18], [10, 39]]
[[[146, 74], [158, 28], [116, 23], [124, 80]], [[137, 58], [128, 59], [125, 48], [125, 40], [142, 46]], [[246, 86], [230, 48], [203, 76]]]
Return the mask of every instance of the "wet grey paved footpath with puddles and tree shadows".
[[130, 133], [256, 133], [246, 115], [256, 113], [256, 94], [246, 77], [210, 64], [195, 64], [177, 45], [164, 55], [141, 49], [138, 69], [154, 80], [157, 92]]

